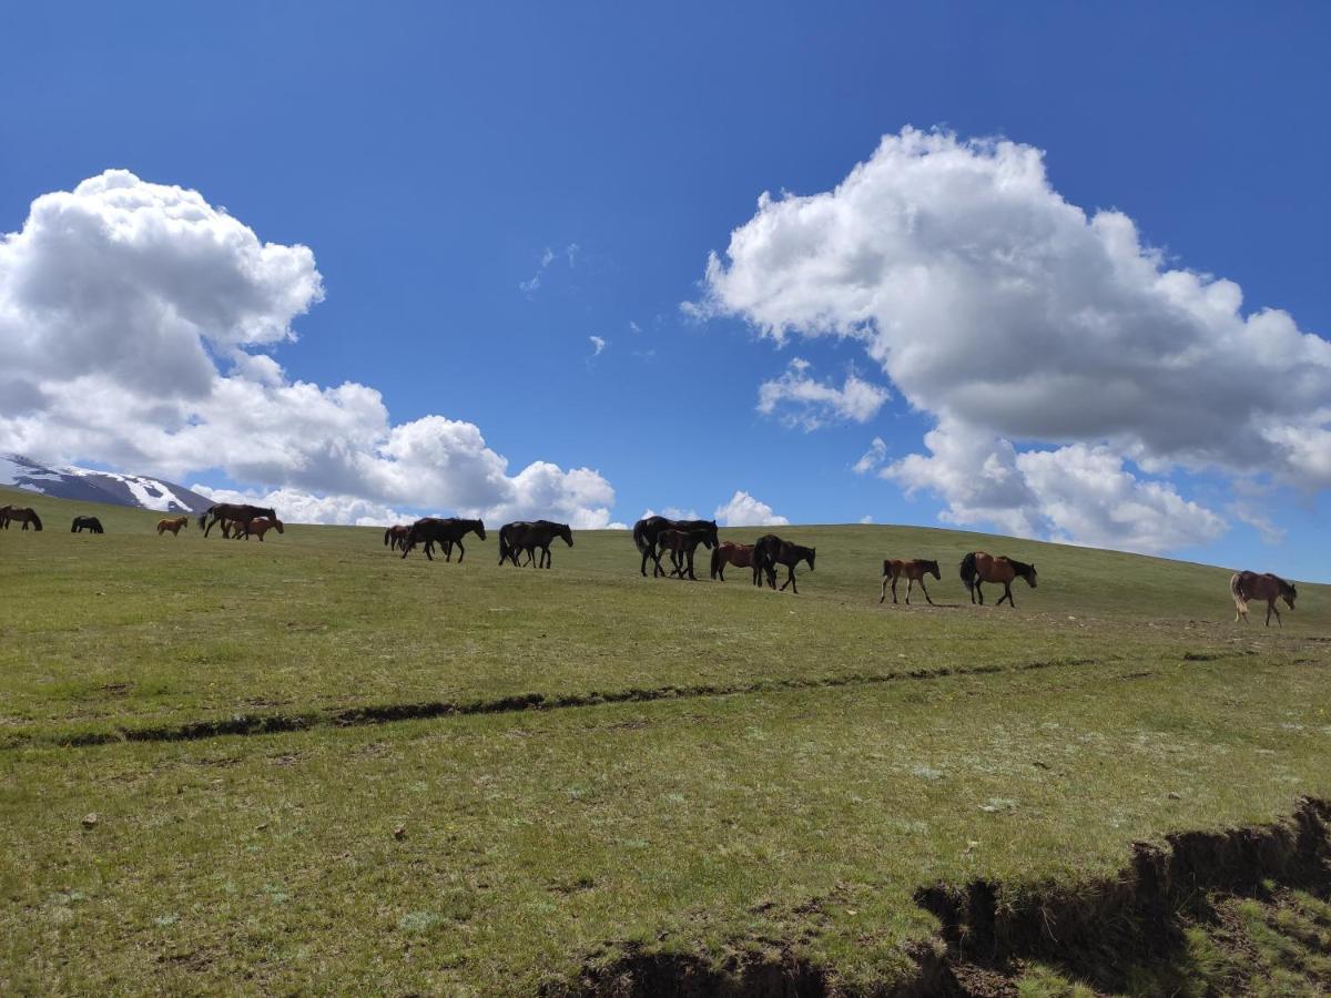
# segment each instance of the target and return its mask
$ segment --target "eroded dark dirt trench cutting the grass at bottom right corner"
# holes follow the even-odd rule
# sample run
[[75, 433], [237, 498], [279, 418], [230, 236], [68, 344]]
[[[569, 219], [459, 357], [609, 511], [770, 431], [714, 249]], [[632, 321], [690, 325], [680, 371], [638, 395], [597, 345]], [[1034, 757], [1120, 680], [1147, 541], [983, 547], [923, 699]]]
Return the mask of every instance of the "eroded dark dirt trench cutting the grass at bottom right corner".
[[[1222, 900], [1270, 900], [1291, 889], [1331, 897], [1331, 801], [1304, 800], [1287, 820], [1268, 825], [1183, 832], [1169, 836], [1163, 846], [1139, 842], [1115, 877], [1075, 886], [985, 880], [922, 886], [916, 902], [938, 918], [940, 934], [912, 950], [913, 977], [884, 982], [869, 993], [1016, 995], [1032, 962], [1055, 967], [1098, 993], [1141, 990], [1143, 979], [1189, 975], [1185, 930], [1218, 925]], [[1324, 947], [1326, 939], [1331, 939], [1331, 925], [1314, 945]], [[1312, 983], [1319, 985], [1331, 990], [1331, 979]], [[1243, 982], [1238, 990], [1246, 990]], [[544, 998], [858, 993], [837, 981], [835, 967], [801, 959], [793, 946], [779, 959], [721, 965], [630, 947], [608, 965], [590, 965], [576, 981], [547, 987]]]

